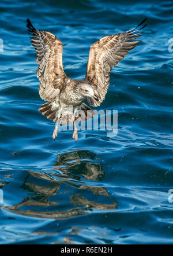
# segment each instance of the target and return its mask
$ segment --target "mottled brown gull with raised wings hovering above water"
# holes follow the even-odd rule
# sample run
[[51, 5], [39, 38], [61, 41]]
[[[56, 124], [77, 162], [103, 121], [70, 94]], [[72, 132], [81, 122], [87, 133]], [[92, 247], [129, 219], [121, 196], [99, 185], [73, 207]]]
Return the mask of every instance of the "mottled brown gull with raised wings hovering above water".
[[[63, 70], [62, 42], [51, 32], [33, 27], [27, 19], [28, 34], [32, 35], [30, 39], [39, 65], [36, 72], [40, 81], [39, 94], [46, 101], [38, 110], [55, 122], [54, 140], [58, 135], [58, 123], [72, 123], [72, 138], [77, 142], [76, 122], [93, 118], [94, 112], [90, 112], [90, 116], [88, 112], [93, 111], [91, 107], [98, 107], [103, 102], [110, 85], [112, 68], [141, 42], [136, 39], [142, 35], [145, 21], [146, 18], [131, 30], [104, 36], [93, 43], [89, 49], [85, 78], [77, 80], [69, 78]], [[91, 107], [84, 103], [86, 100]], [[70, 106], [73, 109], [69, 110]], [[83, 116], [78, 114], [80, 109], [84, 112]]]

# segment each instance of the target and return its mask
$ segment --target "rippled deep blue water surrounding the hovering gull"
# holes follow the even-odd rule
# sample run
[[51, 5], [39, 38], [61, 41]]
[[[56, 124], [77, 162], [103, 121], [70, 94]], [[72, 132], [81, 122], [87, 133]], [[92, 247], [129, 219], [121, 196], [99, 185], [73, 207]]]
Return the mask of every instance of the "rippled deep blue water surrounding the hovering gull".
[[[173, 243], [172, 1], [2, 0], [0, 10], [0, 243]], [[53, 141], [26, 19], [61, 39], [65, 72], [81, 79], [92, 43], [144, 17], [97, 108], [118, 110], [117, 136]]]

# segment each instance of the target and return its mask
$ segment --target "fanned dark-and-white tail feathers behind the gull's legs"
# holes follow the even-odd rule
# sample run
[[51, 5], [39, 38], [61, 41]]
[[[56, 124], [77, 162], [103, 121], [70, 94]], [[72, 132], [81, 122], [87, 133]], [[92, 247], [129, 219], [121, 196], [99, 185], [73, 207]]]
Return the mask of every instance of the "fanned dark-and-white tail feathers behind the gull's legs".
[[[42, 115], [46, 116], [47, 119], [50, 119], [54, 122], [57, 121], [57, 113], [58, 113], [58, 107], [54, 108], [52, 106], [53, 103], [44, 103], [42, 107], [40, 107], [38, 110], [42, 113]], [[75, 115], [75, 121], [77, 123], [81, 123], [83, 121], [86, 121], [88, 119], [93, 118], [93, 115], [95, 115], [96, 112], [86, 105], [85, 103], [81, 104], [81, 108], [76, 112]], [[61, 118], [59, 119], [59, 123], [62, 123], [62, 125], [69, 125], [69, 123], [73, 123], [73, 120], [67, 112], [61, 113]]]

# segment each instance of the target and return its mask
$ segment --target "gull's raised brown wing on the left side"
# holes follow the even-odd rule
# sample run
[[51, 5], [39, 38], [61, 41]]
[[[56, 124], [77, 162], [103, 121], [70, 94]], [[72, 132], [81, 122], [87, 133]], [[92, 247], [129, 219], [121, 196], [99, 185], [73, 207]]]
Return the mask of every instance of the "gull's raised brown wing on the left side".
[[36, 62], [39, 67], [36, 75], [40, 81], [40, 97], [47, 101], [55, 100], [65, 86], [64, 79], [67, 77], [63, 71], [62, 42], [51, 32], [34, 28], [29, 19], [27, 27], [37, 52]]

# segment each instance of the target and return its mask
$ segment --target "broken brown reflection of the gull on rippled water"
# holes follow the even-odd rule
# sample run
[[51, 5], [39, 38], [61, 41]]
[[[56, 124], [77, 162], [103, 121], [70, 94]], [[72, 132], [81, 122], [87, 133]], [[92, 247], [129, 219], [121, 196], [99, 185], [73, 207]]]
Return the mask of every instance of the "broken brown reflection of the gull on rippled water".
[[[93, 184], [93, 181], [100, 181], [104, 177], [104, 171], [100, 163], [94, 160], [95, 156], [95, 153], [89, 151], [64, 153], [58, 155], [54, 164], [54, 171], [50, 173], [28, 171], [28, 176], [25, 178], [22, 188], [29, 191], [29, 197], [22, 199], [20, 203], [14, 206], [6, 207], [6, 209], [32, 217], [57, 219], [86, 214], [88, 210], [92, 209], [116, 209], [118, 204], [109, 195], [107, 189], [99, 186], [99, 183]], [[92, 185], [90, 184], [91, 181]], [[45, 182], [48, 185], [44, 184]], [[44, 185], [40, 185], [42, 183]], [[86, 191], [89, 194], [91, 193], [92, 200], [86, 199], [86, 195], [88, 195]], [[54, 196], [54, 202], [50, 200], [51, 196]], [[102, 203], [95, 202], [98, 199], [100, 201], [101, 198]], [[70, 204], [76, 207], [69, 210], [58, 210], [59, 207], [62, 209], [61, 204], [67, 199], [70, 199]], [[107, 203], [108, 200], [112, 203]], [[32, 210], [29, 209], [29, 206], [32, 206]], [[22, 209], [25, 207], [26, 210], [20, 210], [20, 207]], [[36, 207], [36, 210], [33, 210], [33, 207]], [[38, 207], [43, 207], [46, 211], [39, 211]], [[53, 207], [53, 210], [51, 208], [48, 210], [48, 207]], [[54, 209], [56, 210], [54, 211]]]

